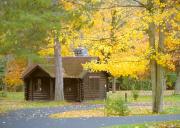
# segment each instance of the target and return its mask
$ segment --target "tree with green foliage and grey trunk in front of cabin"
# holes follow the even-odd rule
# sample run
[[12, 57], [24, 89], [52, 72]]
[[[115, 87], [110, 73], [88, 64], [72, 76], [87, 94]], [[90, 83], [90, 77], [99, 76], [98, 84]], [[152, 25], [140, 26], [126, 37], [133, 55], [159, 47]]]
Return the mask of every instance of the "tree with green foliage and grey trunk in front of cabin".
[[[87, 2], [88, 3], [88, 2]], [[63, 100], [61, 44], [59, 37], [62, 28], [71, 24], [77, 29], [81, 22], [79, 17], [86, 6], [81, 9], [69, 9], [69, 2], [64, 0], [1, 0], [0, 1], [0, 53], [3, 55], [15, 54], [27, 57], [38, 53], [48, 45], [47, 38], [54, 41], [56, 57], [56, 100]], [[66, 28], [68, 29], [68, 28]], [[71, 29], [71, 28], [70, 28]], [[61, 85], [60, 85], [61, 84]], [[60, 87], [60, 91], [59, 90]], [[61, 94], [58, 94], [60, 92]], [[61, 95], [61, 96], [60, 96]]]

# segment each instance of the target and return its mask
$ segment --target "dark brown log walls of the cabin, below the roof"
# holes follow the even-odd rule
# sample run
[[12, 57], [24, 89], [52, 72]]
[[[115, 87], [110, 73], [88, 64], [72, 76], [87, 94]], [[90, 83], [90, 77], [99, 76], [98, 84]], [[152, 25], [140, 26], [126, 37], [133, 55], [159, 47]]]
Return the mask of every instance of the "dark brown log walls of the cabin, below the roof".
[[[43, 91], [37, 91], [37, 78], [42, 79]], [[92, 79], [97, 79], [98, 82]], [[54, 100], [55, 78], [51, 78], [41, 69], [34, 70], [25, 80], [26, 100]], [[95, 86], [93, 86], [95, 85]], [[88, 73], [83, 79], [64, 78], [65, 100], [83, 101], [104, 99], [106, 97], [107, 76], [105, 73]]]

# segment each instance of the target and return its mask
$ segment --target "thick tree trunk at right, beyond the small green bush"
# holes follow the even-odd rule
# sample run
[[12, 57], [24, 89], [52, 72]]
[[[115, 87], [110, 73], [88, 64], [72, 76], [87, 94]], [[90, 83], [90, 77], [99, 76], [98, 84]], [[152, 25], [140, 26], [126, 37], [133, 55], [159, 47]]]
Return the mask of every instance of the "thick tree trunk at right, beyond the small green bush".
[[[150, 13], [153, 13], [153, 2], [148, 1], [148, 8]], [[155, 50], [155, 24], [152, 22], [149, 24], [148, 36], [150, 47]], [[158, 52], [163, 52], [164, 50], [164, 32], [162, 31], [162, 26], [159, 26], [159, 43]], [[155, 53], [154, 53], [155, 54]], [[151, 68], [151, 84], [152, 84], [152, 110], [155, 113], [162, 112], [163, 110], [163, 90], [165, 87], [165, 76], [164, 69], [161, 65], [158, 65], [156, 60], [150, 61]]]

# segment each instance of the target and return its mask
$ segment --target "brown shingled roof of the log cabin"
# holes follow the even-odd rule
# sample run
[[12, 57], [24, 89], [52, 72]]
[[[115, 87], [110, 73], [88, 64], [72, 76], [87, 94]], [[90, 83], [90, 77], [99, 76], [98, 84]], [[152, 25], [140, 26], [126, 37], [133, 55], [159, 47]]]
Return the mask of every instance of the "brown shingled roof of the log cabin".
[[[97, 60], [97, 57], [63, 57], [63, 77], [64, 78], [83, 78], [88, 72], [83, 69], [82, 64], [90, 62], [92, 60]], [[54, 62], [53, 62], [54, 63]], [[28, 77], [36, 68], [40, 68], [50, 77], [55, 78], [55, 65], [54, 64], [33, 64], [29, 66], [22, 75], [25, 79]]]

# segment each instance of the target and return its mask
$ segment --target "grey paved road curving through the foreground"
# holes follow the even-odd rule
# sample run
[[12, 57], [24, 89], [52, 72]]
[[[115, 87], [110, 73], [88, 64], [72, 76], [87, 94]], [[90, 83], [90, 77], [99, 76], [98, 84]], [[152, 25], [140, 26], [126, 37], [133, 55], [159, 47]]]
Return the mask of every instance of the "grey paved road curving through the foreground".
[[134, 124], [154, 121], [180, 120], [180, 115], [127, 116], [98, 118], [50, 119], [49, 114], [85, 110], [102, 107], [102, 105], [66, 106], [56, 108], [24, 109], [10, 112], [0, 117], [0, 128], [100, 128], [117, 124]]

